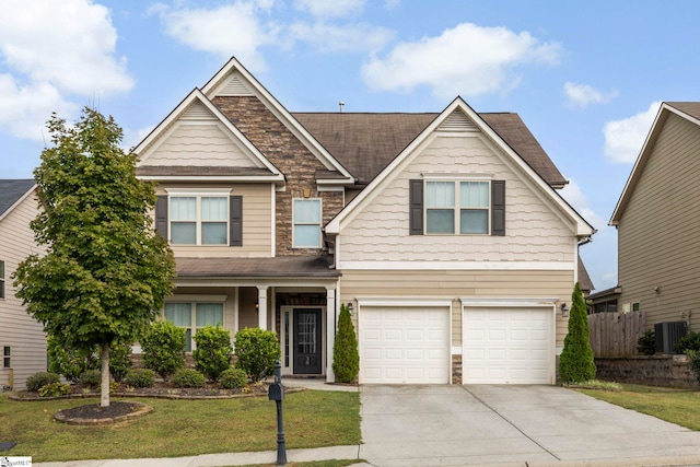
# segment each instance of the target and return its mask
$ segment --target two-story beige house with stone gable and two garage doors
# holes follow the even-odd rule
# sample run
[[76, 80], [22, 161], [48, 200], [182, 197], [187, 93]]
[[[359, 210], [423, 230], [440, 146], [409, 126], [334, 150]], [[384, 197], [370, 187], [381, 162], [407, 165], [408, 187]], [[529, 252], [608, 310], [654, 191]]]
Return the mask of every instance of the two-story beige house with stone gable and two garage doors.
[[188, 349], [271, 329], [283, 374], [334, 381], [347, 304], [360, 383], [555, 383], [594, 230], [516, 114], [292, 114], [232, 59], [135, 151]]

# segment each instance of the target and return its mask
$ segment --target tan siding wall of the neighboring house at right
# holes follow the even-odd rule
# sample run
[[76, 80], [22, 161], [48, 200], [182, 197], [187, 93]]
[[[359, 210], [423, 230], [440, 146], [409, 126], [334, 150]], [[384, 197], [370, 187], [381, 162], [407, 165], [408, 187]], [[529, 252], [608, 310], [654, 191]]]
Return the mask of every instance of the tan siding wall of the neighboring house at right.
[[700, 127], [669, 114], [619, 222], [619, 305], [639, 302], [650, 328], [690, 312], [700, 330], [698, 154]]

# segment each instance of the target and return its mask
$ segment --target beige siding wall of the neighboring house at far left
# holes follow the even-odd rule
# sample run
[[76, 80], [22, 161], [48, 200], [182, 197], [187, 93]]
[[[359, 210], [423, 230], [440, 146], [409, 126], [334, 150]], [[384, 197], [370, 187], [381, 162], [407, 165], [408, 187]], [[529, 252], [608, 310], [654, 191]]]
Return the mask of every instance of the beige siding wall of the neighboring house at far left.
[[[4, 346], [12, 348], [12, 370], [15, 390], [24, 389], [32, 373], [46, 371], [46, 335], [14, 296], [11, 276], [18, 265], [31, 254], [39, 254], [30, 222], [36, 217], [37, 202], [28, 196], [0, 221], [0, 260], [4, 260], [5, 297], [0, 299], [0, 354]], [[9, 370], [0, 360], [0, 386], [10, 384]]]

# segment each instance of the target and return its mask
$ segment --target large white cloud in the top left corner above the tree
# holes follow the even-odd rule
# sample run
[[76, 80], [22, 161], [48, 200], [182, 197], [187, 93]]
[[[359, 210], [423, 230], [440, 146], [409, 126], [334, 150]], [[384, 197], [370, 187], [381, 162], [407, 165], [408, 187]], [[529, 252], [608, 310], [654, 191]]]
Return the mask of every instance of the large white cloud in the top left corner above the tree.
[[129, 91], [116, 40], [109, 10], [91, 0], [0, 2], [0, 127], [40, 140], [51, 112], [68, 118], [77, 96]]

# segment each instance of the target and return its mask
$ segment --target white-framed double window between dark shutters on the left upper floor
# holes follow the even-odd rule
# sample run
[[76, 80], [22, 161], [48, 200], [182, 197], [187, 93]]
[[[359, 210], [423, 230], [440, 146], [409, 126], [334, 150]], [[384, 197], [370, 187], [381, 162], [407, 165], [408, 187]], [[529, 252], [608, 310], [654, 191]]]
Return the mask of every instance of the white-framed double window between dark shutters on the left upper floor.
[[172, 196], [173, 245], [228, 245], [228, 196]]

